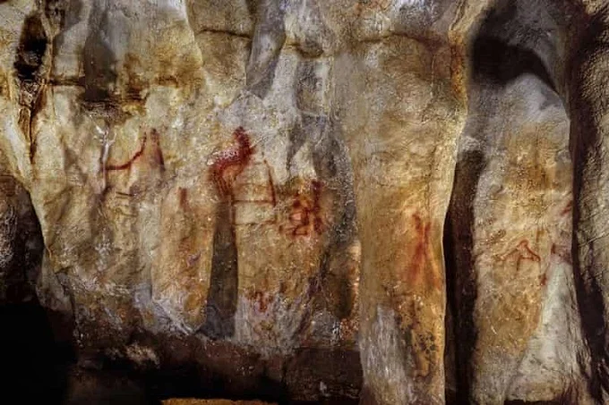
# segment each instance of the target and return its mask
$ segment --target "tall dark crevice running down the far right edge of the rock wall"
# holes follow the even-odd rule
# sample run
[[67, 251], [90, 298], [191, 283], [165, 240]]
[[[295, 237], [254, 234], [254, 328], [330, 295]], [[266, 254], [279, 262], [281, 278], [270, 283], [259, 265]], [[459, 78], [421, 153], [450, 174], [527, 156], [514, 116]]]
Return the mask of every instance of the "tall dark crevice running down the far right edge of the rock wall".
[[[602, 145], [598, 128], [595, 125], [597, 112], [592, 108], [592, 102], [586, 96], [589, 86], [587, 72], [582, 66], [594, 58], [599, 49], [606, 48], [603, 33], [609, 29], [605, 21], [609, 15], [609, 5], [605, 5], [596, 16], [588, 18], [580, 25], [585, 27], [583, 35], [574, 41], [575, 55], [570, 61], [570, 148], [574, 165], [573, 175], [573, 244], [571, 254], [573, 257], [573, 270], [575, 287], [579, 305], [579, 316], [588, 344], [591, 357], [591, 375], [589, 375], [589, 391], [598, 403], [603, 400], [603, 391], [609, 392], [609, 355], [607, 354], [607, 323], [605, 320], [605, 291], [602, 285], [601, 269], [594, 263], [595, 246], [590, 243], [586, 249], [588, 260], [579, 255], [577, 234], [579, 229], [586, 228], [588, 221], [594, 219], [584, 218], [580, 212], [582, 201], [597, 198], [599, 192], [594, 190], [598, 185], [586, 184], [585, 173], [601, 173], [603, 159], [599, 156]], [[601, 89], [598, 89], [601, 91]], [[588, 180], [588, 182], [590, 182]], [[590, 215], [590, 213], [588, 213]], [[583, 226], [582, 226], [583, 225]], [[606, 288], [606, 286], [605, 286]]]

